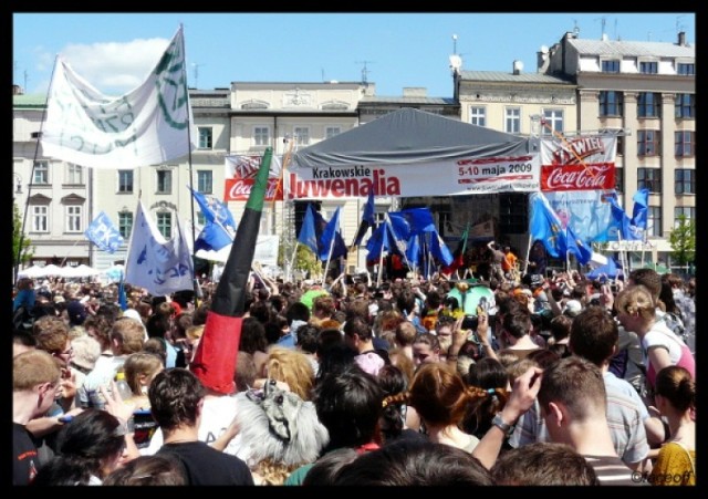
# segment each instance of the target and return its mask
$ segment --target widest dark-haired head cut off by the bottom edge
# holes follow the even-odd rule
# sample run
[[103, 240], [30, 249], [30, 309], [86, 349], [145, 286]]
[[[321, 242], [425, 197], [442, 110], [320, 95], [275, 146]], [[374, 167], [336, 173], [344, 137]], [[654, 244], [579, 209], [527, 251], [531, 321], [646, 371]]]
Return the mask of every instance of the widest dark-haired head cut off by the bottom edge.
[[445, 444], [402, 440], [360, 455], [343, 466], [336, 486], [490, 486], [487, 468], [471, 454]]

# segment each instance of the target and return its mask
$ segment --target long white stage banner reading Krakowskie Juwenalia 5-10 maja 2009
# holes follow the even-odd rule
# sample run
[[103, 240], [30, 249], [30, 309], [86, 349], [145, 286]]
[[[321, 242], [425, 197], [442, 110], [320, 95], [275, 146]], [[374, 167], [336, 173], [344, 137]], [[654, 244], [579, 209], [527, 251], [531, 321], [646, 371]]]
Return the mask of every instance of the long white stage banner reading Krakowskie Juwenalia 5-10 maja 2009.
[[538, 153], [518, 157], [462, 158], [405, 165], [292, 167], [288, 199], [345, 199], [378, 196], [455, 196], [539, 190]]

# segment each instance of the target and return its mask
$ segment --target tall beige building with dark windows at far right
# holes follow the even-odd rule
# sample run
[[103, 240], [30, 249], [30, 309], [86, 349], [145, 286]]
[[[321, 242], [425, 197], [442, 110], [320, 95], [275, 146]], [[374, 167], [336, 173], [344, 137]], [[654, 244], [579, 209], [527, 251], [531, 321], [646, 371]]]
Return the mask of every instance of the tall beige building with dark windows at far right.
[[[625, 211], [649, 189], [646, 250], [670, 264], [669, 232], [696, 217], [696, 48], [676, 43], [584, 40], [569, 32], [548, 53], [546, 74], [577, 85], [577, 129], [625, 129], [616, 189]], [[633, 260], [641, 254], [632, 254]]]

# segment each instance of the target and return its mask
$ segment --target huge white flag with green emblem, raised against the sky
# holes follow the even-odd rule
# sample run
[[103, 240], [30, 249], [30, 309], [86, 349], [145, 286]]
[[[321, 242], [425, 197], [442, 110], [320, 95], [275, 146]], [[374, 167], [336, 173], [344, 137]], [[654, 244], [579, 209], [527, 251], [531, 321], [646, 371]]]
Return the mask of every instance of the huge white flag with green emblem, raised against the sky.
[[50, 89], [40, 138], [45, 156], [95, 168], [134, 168], [196, 147], [181, 27], [147, 80], [123, 96], [103, 95], [59, 56]]

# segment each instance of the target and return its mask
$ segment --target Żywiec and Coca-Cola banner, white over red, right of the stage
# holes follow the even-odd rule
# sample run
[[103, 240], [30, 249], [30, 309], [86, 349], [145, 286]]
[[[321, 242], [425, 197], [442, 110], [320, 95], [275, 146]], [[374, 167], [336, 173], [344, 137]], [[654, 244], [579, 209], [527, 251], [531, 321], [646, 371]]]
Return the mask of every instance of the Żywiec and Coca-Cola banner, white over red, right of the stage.
[[614, 189], [616, 152], [615, 136], [541, 139], [541, 190]]

